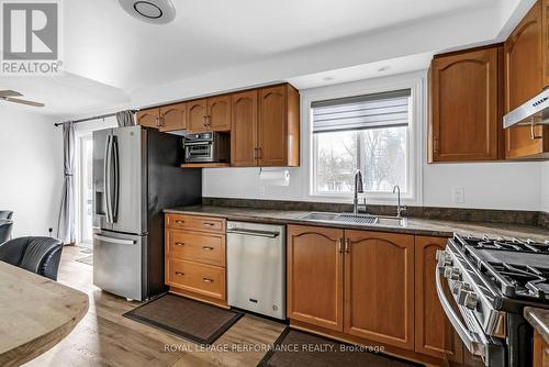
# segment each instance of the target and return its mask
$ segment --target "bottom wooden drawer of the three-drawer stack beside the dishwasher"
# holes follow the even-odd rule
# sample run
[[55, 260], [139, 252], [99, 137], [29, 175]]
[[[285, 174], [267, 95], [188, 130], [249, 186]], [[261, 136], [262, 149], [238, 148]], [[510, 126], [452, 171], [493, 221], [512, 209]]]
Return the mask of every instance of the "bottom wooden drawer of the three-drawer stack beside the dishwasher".
[[225, 300], [225, 268], [167, 258], [169, 286]]

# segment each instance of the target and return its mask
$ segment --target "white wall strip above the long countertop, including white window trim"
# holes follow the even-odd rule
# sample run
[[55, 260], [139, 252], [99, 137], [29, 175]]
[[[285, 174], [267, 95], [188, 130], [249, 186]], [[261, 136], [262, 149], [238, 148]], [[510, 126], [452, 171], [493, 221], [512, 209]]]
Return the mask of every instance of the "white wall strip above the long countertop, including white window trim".
[[[419, 80], [419, 81], [418, 81]], [[427, 207], [461, 207], [483, 209], [509, 210], [540, 210], [541, 169], [540, 163], [475, 163], [475, 164], [435, 164], [426, 163], [426, 75], [416, 71], [379, 79], [369, 79], [358, 82], [336, 85], [323, 88], [301, 90], [302, 96], [302, 165], [290, 169], [290, 186], [276, 187], [265, 185], [259, 180], [258, 168], [210, 168], [203, 170], [202, 193], [204, 197], [226, 197], [271, 200], [304, 200], [320, 201], [309, 194], [309, 154], [307, 136], [309, 115], [307, 105], [311, 96], [334, 96], [349, 91], [357, 93], [360, 90], [372, 92], [393, 86], [403, 88], [406, 84], [422, 85], [419, 94], [423, 101], [417, 102], [419, 113], [416, 113], [421, 129], [416, 135], [418, 142], [416, 173], [419, 187], [416, 200], [408, 204]], [[549, 163], [545, 166], [546, 185], [549, 186]], [[423, 184], [422, 184], [423, 182]], [[464, 202], [452, 201], [453, 189], [464, 190]], [[549, 190], [548, 190], [549, 191]], [[324, 199], [323, 201], [328, 201]], [[336, 200], [339, 202], [350, 201]], [[372, 203], [388, 203], [386, 200], [369, 198]], [[390, 203], [393, 203], [391, 198]], [[549, 208], [549, 192], [546, 192], [546, 208]]]

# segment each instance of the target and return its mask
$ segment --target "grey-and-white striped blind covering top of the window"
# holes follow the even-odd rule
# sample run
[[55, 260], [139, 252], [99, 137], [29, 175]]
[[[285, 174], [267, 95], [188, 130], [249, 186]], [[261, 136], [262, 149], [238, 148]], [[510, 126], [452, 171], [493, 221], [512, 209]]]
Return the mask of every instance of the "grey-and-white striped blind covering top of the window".
[[316, 101], [313, 133], [407, 126], [410, 89]]

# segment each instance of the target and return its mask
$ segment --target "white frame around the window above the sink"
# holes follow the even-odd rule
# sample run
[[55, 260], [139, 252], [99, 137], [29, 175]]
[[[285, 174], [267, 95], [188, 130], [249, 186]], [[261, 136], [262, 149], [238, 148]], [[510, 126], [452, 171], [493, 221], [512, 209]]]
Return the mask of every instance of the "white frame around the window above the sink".
[[[414, 71], [403, 75], [395, 75], [384, 78], [376, 78], [334, 85], [328, 87], [306, 89], [301, 94], [301, 116], [302, 116], [302, 156], [305, 157], [304, 166], [306, 179], [304, 180], [303, 192], [309, 200], [326, 202], [351, 202], [352, 192], [349, 193], [326, 193], [316, 191], [316, 164], [317, 137], [313, 134], [312, 103], [314, 101], [347, 98], [352, 96], [388, 92], [399, 89], [410, 89], [410, 124], [407, 127], [407, 182], [408, 192], [402, 196], [406, 204], [423, 203], [423, 166], [424, 149], [422, 149], [422, 136], [425, 112], [425, 71]], [[372, 204], [386, 204], [395, 200], [392, 192], [370, 191], [365, 193], [367, 201]]]

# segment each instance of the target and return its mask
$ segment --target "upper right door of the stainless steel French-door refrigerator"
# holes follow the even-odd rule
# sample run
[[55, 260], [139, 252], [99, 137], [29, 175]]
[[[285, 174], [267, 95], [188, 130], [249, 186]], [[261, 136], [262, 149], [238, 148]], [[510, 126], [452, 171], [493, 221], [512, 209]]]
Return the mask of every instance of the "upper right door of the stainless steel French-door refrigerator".
[[146, 229], [146, 131], [141, 126], [113, 129], [112, 230], [143, 234]]

